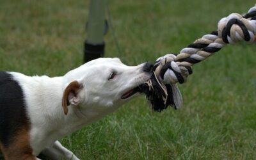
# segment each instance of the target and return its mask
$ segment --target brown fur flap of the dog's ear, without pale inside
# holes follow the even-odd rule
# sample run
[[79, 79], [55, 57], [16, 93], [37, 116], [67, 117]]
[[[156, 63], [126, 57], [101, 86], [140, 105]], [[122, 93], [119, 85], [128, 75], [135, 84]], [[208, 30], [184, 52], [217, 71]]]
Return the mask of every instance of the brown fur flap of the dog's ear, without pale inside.
[[69, 100], [74, 99], [77, 96], [77, 92], [81, 88], [80, 84], [77, 81], [72, 81], [68, 84], [63, 92], [62, 97], [62, 107], [65, 115], [68, 114], [68, 105], [70, 105]]

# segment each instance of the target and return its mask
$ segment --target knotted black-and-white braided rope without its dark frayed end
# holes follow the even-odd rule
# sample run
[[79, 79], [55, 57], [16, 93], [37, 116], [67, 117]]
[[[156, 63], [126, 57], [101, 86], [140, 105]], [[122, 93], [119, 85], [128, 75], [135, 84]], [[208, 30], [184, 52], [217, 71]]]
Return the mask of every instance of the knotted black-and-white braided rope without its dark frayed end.
[[202, 36], [175, 54], [166, 54], [157, 59], [155, 66], [157, 76], [164, 84], [186, 82], [192, 74], [191, 66], [212, 56], [227, 44], [240, 41], [254, 41], [256, 33], [256, 6], [250, 8], [246, 15], [232, 13], [218, 22], [218, 31]]

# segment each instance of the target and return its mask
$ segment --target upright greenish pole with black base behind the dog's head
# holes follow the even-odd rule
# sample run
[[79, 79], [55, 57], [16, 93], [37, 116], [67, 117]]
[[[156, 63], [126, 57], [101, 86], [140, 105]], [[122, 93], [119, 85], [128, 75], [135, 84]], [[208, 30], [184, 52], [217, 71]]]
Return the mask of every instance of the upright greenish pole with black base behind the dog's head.
[[84, 42], [84, 63], [104, 54], [104, 35], [108, 24], [105, 20], [106, 0], [91, 0], [86, 24], [87, 38]]

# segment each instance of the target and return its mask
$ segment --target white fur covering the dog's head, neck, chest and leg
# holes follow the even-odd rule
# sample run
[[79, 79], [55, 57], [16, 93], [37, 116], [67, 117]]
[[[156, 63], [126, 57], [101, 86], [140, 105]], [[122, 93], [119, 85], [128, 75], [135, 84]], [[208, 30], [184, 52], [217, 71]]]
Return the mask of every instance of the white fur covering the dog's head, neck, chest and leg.
[[[150, 78], [151, 74], [143, 72], [142, 68], [143, 64], [134, 67], [124, 65], [118, 58], [99, 58], [63, 77], [29, 77], [10, 72], [24, 91], [31, 121], [33, 155], [38, 156], [44, 150], [42, 153], [48, 156], [54, 154], [77, 159], [57, 140], [115, 111], [125, 101], [120, 98], [125, 92]], [[116, 77], [108, 80], [111, 72], [116, 72]], [[61, 106], [63, 91], [72, 81], [83, 85], [77, 94], [80, 103], [68, 106], [68, 114], [65, 115]], [[54, 151], [49, 149], [52, 146]]]

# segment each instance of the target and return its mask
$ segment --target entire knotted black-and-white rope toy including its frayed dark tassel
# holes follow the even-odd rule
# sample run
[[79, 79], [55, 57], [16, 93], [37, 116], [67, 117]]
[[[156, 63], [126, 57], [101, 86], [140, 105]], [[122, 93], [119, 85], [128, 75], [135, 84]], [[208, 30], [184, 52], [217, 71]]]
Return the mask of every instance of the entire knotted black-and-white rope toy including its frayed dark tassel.
[[168, 106], [182, 106], [182, 96], [176, 83], [185, 83], [192, 74], [192, 65], [212, 56], [227, 44], [240, 41], [252, 44], [256, 33], [256, 6], [246, 15], [232, 13], [218, 22], [218, 30], [202, 36], [182, 49], [179, 54], [166, 54], [156, 60], [154, 75], [140, 86], [154, 111]]

